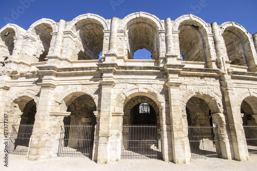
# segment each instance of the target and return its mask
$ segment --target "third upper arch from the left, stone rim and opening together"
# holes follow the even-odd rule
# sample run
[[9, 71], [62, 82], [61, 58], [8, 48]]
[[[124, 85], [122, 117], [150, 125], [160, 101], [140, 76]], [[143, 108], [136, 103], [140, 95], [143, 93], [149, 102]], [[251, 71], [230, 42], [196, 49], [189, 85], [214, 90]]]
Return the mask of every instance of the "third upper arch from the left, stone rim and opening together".
[[[108, 29], [106, 20], [96, 14], [83, 14], [74, 18], [66, 30], [77, 35], [74, 47], [74, 60], [97, 60], [103, 51], [104, 30]], [[76, 55], [77, 54], [77, 55]]]

